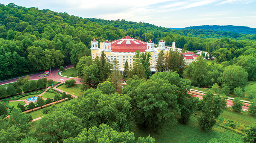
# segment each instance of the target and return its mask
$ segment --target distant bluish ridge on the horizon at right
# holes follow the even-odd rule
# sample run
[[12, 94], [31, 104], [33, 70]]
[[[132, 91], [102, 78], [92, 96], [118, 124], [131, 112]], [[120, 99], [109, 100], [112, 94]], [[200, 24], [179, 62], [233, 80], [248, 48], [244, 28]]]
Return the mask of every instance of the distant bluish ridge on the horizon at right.
[[189, 26], [183, 29], [206, 29], [206, 30], [216, 30], [216, 31], [230, 31], [242, 34], [256, 34], [256, 28], [251, 28], [247, 26], [233, 26], [233, 25], [203, 25], [203, 26]]

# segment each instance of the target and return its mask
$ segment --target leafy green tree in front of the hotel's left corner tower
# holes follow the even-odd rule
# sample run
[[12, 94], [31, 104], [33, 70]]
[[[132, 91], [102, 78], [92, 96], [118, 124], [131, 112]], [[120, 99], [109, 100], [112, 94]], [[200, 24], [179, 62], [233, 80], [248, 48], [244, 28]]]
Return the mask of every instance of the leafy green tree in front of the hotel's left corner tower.
[[91, 86], [95, 89], [95, 85], [99, 83], [99, 69], [98, 65], [93, 64], [84, 69], [84, 83]]

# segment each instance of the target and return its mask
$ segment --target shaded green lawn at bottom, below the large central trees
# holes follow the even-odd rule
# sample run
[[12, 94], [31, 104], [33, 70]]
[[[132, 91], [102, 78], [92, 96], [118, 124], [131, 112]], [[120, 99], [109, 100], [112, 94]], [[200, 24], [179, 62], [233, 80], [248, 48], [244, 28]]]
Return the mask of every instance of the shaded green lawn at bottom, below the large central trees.
[[139, 136], [146, 137], [150, 134], [155, 138], [155, 143], [207, 143], [212, 138], [228, 137], [234, 140], [241, 140], [242, 136], [230, 130], [224, 129], [218, 125], [213, 126], [211, 131], [203, 131], [198, 127], [197, 118], [192, 116], [188, 125], [177, 123], [170, 127], [166, 125], [161, 133], [154, 133], [148, 129], [140, 129], [133, 126], [131, 131], [134, 132], [136, 140]]

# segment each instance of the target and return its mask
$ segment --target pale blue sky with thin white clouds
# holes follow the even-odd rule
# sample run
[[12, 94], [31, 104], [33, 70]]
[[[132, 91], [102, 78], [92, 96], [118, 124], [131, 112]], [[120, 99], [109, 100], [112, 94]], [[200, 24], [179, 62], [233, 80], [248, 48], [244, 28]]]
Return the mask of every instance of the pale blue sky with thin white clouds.
[[256, 28], [256, 0], [0, 0], [0, 3], [162, 27], [236, 25]]

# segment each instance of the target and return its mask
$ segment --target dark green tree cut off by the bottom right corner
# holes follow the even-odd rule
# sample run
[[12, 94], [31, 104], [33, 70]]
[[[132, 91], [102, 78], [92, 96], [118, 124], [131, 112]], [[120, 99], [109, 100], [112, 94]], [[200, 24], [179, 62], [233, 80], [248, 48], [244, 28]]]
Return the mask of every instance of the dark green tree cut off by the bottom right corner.
[[248, 129], [245, 129], [245, 136], [244, 141], [249, 143], [255, 143], [256, 142], [256, 123], [253, 123], [249, 126]]

